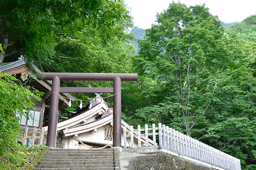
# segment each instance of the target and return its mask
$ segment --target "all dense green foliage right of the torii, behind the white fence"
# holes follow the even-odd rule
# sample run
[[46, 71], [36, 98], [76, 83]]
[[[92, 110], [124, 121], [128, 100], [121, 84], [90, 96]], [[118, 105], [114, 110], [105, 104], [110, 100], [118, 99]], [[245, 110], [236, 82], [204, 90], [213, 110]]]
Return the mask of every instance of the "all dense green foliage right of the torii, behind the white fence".
[[224, 28], [204, 5], [171, 3], [139, 41], [140, 77], [130, 87], [136, 97], [123, 102], [126, 121], [164, 123], [254, 169], [254, 20]]

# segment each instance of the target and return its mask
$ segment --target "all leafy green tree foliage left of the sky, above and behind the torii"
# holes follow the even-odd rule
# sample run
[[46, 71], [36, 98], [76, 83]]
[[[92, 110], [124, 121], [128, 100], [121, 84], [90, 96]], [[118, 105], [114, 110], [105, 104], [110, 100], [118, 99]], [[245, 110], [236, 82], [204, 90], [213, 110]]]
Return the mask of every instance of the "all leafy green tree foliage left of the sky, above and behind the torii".
[[[5, 62], [26, 55], [28, 64], [34, 61], [46, 72], [130, 72], [134, 48], [126, 39], [132, 39], [128, 34], [132, 20], [123, 0], [8, 0], [0, 8], [5, 21], [0, 25], [4, 49], [0, 56]], [[62, 84], [88, 86], [87, 82]]]

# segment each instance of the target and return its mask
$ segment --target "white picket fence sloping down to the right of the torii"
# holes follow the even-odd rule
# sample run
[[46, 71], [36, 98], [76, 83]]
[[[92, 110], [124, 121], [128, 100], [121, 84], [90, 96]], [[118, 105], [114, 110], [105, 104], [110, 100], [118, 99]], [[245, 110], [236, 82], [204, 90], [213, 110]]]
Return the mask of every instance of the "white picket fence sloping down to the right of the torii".
[[[124, 148], [127, 147], [126, 141], [128, 138], [130, 138], [131, 142], [130, 147], [134, 147], [134, 137], [138, 140], [138, 147], [141, 147], [141, 140], [146, 141], [146, 147], [150, 146], [148, 141], [153, 144], [152, 146], [157, 146], [156, 140], [158, 136], [160, 146], [166, 147], [180, 155], [226, 170], [241, 170], [238, 158], [210, 147], [161, 123], [158, 124], [158, 127], [152, 124], [152, 128], [148, 128], [148, 125], [145, 125], [145, 129], [140, 129], [140, 125], [138, 125], [138, 129], [133, 129], [132, 126], [129, 129], [124, 127]], [[145, 131], [145, 134], [141, 134], [141, 131]], [[148, 131], [152, 131], [152, 133], [148, 133]], [[152, 136], [152, 140], [148, 136]]]

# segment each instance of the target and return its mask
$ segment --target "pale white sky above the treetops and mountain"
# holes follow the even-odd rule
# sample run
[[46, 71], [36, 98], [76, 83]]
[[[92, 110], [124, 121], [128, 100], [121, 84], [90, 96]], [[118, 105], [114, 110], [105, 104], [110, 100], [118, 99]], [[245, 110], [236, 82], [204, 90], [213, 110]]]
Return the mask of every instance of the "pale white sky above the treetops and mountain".
[[[124, 0], [134, 18], [134, 26], [150, 28], [156, 20], [156, 14], [168, 8], [172, 0]], [[178, 0], [173, 0], [178, 2]], [[205, 4], [212, 15], [217, 15], [225, 23], [240, 22], [256, 14], [256, 0], [180, 0], [186, 6]]]

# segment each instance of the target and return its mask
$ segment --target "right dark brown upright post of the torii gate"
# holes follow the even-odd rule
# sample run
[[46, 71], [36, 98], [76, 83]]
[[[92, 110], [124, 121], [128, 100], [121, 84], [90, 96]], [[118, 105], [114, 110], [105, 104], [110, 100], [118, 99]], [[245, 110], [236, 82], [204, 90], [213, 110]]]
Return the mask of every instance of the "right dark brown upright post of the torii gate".
[[121, 79], [114, 78], [113, 147], [121, 147]]

